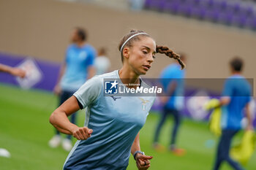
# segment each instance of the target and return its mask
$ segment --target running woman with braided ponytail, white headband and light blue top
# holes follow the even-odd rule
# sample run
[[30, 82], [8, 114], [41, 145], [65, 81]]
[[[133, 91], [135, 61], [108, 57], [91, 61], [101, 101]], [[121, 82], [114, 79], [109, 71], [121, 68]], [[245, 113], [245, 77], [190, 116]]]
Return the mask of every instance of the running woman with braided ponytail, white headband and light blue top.
[[[150, 69], [155, 53], [175, 58], [182, 67], [184, 63], [179, 55], [167, 47], [157, 46], [154, 39], [143, 31], [130, 31], [121, 39], [118, 49], [123, 63], [120, 70], [91, 78], [50, 116], [50, 123], [61, 133], [72, 134], [78, 139], [64, 169], [127, 169], [129, 152], [138, 169], [150, 166], [149, 160], [153, 157], [140, 151], [139, 131], [146, 122], [154, 96], [104, 96], [104, 79], [148, 87], [140, 75]], [[112, 83], [114, 88], [116, 84]], [[83, 108], [86, 108], [84, 127], [70, 123], [67, 117]]]

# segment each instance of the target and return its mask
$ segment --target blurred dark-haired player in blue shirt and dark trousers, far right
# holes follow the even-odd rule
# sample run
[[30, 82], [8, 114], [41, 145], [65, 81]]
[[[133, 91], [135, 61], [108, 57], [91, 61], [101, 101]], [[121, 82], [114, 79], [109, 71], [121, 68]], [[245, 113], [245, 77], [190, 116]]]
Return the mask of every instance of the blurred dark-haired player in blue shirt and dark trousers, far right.
[[249, 101], [251, 100], [251, 87], [249, 82], [241, 75], [243, 61], [233, 58], [230, 61], [231, 76], [225, 81], [220, 106], [222, 107], [222, 136], [217, 147], [217, 158], [214, 170], [219, 169], [223, 161], [227, 161], [233, 169], [243, 169], [239, 163], [230, 158], [230, 144], [233, 136], [241, 129], [243, 110], [248, 119], [247, 130], [253, 129], [249, 114]]

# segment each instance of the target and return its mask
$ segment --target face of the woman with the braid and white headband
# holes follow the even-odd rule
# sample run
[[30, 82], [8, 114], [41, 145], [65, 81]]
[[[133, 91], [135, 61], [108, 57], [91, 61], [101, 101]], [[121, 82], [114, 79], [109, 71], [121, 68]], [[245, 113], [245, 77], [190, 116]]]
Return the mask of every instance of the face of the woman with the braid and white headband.
[[148, 72], [156, 53], [154, 39], [147, 36], [142, 36], [140, 39], [140, 41], [133, 42], [132, 47], [129, 47], [128, 58], [129, 66], [138, 75]]

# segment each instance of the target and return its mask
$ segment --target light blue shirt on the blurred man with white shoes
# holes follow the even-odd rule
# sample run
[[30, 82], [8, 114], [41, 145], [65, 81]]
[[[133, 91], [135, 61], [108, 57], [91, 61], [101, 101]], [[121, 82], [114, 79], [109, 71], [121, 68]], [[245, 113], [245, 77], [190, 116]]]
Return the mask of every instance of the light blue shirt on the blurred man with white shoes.
[[66, 52], [66, 70], [61, 78], [61, 89], [74, 92], [87, 80], [88, 68], [94, 64], [96, 51], [91, 45], [69, 45]]

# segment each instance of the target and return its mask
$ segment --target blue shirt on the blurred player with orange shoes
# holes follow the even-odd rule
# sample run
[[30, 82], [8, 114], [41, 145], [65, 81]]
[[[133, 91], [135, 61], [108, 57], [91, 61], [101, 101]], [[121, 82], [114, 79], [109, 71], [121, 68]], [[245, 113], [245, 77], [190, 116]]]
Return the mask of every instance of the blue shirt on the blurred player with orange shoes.
[[167, 66], [160, 74], [160, 81], [167, 93], [170, 83], [176, 82], [176, 88], [170, 95], [169, 100], [165, 104], [168, 109], [181, 110], [184, 107], [184, 77], [185, 70], [181, 70], [181, 66], [178, 63], [172, 63]]

